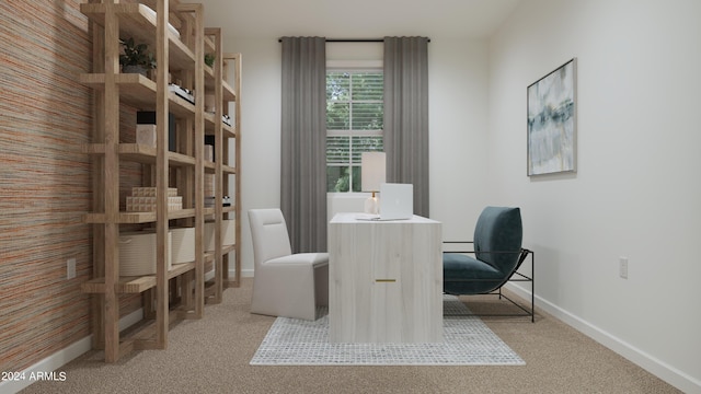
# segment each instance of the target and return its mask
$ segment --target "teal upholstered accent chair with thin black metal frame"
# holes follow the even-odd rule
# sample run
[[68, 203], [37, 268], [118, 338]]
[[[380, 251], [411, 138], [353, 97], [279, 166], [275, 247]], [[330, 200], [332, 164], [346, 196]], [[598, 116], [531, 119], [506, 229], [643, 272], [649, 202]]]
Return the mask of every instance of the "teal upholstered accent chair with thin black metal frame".
[[[443, 255], [444, 292], [453, 296], [496, 293], [527, 312], [535, 321], [533, 253], [521, 247], [524, 227], [519, 208], [486, 207], [480, 215], [473, 241], [448, 241], [446, 244], [472, 244], [472, 251], [445, 252]], [[518, 273], [531, 256], [531, 276]], [[531, 309], [502, 293], [509, 280], [531, 282]], [[522, 314], [519, 314], [522, 315]]]

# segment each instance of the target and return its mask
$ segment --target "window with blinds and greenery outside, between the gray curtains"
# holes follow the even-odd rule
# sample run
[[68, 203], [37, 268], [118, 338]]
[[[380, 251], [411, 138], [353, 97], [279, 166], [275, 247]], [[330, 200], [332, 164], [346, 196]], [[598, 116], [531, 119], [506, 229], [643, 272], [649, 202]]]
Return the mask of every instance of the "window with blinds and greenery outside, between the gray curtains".
[[326, 72], [326, 192], [360, 190], [360, 155], [383, 151], [381, 70]]

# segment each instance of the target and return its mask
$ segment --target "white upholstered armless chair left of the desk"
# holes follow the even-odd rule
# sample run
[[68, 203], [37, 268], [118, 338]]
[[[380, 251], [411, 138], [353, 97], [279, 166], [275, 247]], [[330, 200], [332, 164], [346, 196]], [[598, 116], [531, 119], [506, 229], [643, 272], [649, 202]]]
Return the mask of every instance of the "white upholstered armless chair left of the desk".
[[317, 305], [329, 304], [329, 254], [292, 254], [279, 209], [249, 210], [253, 239], [251, 313], [317, 318]]

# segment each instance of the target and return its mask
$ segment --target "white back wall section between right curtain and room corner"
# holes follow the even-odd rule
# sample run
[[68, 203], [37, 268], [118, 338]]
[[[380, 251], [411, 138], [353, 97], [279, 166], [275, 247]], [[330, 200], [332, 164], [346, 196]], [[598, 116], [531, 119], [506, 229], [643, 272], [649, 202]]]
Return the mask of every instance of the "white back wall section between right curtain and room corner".
[[486, 43], [432, 37], [428, 73], [430, 217], [443, 222], [444, 240], [472, 240], [491, 204]]

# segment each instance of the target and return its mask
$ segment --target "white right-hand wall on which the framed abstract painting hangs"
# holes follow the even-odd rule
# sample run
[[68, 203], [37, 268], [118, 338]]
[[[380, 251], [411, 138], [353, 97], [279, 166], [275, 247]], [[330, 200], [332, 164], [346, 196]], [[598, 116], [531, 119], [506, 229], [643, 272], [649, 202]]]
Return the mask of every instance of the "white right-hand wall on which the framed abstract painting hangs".
[[[490, 43], [490, 178], [541, 304], [701, 392], [701, 1], [529, 0]], [[526, 88], [578, 62], [578, 172], [526, 176]], [[629, 279], [618, 275], [628, 257]]]

